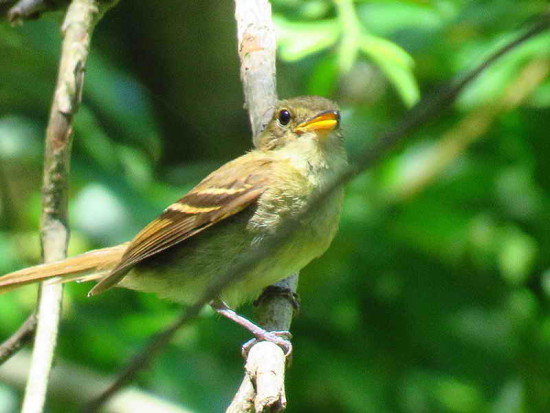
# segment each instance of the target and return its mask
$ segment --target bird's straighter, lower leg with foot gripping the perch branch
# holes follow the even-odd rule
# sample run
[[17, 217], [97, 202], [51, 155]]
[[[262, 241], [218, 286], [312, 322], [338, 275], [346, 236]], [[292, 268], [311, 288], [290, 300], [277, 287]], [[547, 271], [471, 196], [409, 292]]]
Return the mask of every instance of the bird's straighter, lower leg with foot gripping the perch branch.
[[248, 350], [256, 341], [270, 341], [277, 344], [283, 349], [286, 356], [289, 356], [290, 353], [292, 353], [292, 344], [289, 341], [290, 338], [292, 338], [292, 335], [289, 331], [267, 331], [260, 326], [257, 326], [252, 321], [237, 314], [221, 300], [212, 300], [210, 302], [210, 307], [212, 307], [218, 314], [246, 328], [254, 335], [254, 337], [256, 337], [256, 339], [250, 340], [243, 345], [243, 356], [246, 356]]

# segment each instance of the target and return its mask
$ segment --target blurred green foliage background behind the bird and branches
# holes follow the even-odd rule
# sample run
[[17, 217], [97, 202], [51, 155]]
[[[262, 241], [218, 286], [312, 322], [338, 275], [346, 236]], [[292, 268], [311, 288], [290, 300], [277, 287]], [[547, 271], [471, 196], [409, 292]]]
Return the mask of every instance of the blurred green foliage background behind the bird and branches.
[[[273, 0], [279, 94], [336, 99], [356, 154], [547, 6]], [[0, 273], [39, 260], [61, 19], [0, 24]], [[550, 411], [549, 58], [549, 34], [509, 53], [347, 187], [337, 238], [302, 273], [289, 411]], [[131, 238], [250, 148], [247, 122], [233, 2], [121, 1], [97, 28], [75, 120], [71, 254]], [[58, 359], [105, 377], [180, 311], [122, 290], [88, 299], [88, 289], [66, 288]], [[35, 295], [0, 297], [0, 339]], [[205, 312], [138, 384], [221, 411], [246, 339]], [[17, 411], [21, 393], [0, 383], [0, 412]], [[59, 394], [48, 411], [76, 408]]]

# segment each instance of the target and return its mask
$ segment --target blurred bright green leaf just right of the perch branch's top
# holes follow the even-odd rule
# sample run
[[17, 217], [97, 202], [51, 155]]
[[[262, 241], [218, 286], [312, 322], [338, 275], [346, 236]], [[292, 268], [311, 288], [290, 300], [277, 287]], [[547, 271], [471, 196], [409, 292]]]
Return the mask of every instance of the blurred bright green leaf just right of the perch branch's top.
[[335, 20], [294, 23], [279, 16], [274, 21], [279, 55], [287, 62], [301, 60], [331, 47], [340, 35], [340, 27]]

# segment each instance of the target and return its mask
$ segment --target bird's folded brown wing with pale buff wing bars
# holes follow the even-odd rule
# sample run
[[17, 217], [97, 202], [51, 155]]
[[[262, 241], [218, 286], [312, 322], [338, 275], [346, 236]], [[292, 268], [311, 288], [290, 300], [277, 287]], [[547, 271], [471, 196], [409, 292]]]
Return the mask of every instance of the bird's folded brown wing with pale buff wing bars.
[[118, 265], [89, 295], [108, 290], [137, 263], [253, 204], [268, 185], [271, 165], [269, 159], [245, 156], [208, 175], [136, 235]]

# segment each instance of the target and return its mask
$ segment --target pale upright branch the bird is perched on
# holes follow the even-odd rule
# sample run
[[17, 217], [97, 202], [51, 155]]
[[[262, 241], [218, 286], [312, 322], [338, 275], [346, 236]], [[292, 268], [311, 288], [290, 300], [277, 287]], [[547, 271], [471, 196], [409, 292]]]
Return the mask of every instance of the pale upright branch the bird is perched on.
[[[252, 126], [253, 142], [269, 121], [277, 101], [275, 26], [267, 0], [235, 0], [238, 52], [246, 108]], [[298, 274], [279, 283], [296, 293]], [[282, 295], [266, 295], [259, 300], [257, 321], [266, 330], [289, 330], [294, 309]], [[260, 344], [260, 343], [258, 343]], [[284, 374], [286, 358], [274, 343], [254, 345], [247, 353], [245, 374], [228, 412], [272, 410], [286, 407]]]

